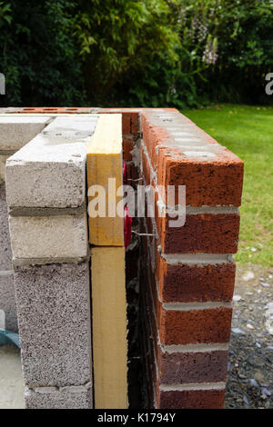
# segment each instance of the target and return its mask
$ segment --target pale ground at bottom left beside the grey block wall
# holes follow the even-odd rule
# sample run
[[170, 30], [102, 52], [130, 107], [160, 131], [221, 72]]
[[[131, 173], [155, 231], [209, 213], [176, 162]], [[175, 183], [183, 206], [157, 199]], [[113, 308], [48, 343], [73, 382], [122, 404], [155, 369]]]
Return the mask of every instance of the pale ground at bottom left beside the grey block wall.
[[24, 383], [20, 351], [15, 345], [0, 347], [0, 409], [23, 409]]

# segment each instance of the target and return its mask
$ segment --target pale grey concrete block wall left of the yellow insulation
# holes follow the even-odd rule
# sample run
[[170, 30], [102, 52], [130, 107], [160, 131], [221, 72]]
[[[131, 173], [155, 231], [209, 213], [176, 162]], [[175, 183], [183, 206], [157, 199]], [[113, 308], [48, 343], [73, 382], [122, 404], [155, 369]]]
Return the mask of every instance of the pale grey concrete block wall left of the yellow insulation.
[[96, 122], [52, 117], [5, 165], [26, 408], [93, 407], [86, 144]]

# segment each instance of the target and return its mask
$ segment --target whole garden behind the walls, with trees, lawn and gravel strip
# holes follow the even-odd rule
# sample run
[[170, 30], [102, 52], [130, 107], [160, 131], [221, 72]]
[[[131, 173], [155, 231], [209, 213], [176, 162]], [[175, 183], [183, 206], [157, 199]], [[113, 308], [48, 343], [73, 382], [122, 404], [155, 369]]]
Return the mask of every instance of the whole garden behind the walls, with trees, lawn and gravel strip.
[[0, 106], [176, 107], [244, 160], [226, 407], [273, 408], [273, 1], [0, 1], [0, 73]]

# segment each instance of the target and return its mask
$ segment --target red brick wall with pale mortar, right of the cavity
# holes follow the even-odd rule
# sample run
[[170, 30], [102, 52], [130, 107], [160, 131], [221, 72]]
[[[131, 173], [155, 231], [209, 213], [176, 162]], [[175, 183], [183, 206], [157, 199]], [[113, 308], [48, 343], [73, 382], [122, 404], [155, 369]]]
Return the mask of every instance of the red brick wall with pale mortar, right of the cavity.
[[[141, 114], [141, 171], [156, 217], [141, 221], [143, 346], [149, 407], [221, 408], [243, 163], [176, 110]], [[158, 185], [186, 185], [186, 222], [171, 227]], [[148, 234], [147, 236], [145, 234]]]

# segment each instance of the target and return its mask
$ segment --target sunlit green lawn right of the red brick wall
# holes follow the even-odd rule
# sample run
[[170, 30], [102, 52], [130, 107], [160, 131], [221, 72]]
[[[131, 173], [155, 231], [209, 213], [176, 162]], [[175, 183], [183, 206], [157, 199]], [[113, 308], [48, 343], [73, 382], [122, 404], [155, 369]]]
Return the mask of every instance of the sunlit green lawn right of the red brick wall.
[[245, 162], [235, 258], [272, 265], [273, 107], [220, 104], [182, 113]]

